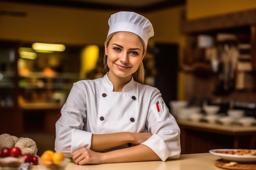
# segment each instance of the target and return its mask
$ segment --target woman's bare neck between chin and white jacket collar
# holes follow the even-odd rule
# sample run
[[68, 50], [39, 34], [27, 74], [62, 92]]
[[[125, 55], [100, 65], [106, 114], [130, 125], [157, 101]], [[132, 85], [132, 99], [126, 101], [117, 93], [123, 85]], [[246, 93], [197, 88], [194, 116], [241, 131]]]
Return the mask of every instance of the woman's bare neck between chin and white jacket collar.
[[114, 89], [113, 91], [116, 92], [122, 92], [124, 86], [130, 82], [131, 80], [131, 75], [127, 76], [127, 77], [118, 77], [115, 74], [113, 74], [112, 72], [108, 73], [108, 79], [110, 80], [110, 82], [112, 82]]

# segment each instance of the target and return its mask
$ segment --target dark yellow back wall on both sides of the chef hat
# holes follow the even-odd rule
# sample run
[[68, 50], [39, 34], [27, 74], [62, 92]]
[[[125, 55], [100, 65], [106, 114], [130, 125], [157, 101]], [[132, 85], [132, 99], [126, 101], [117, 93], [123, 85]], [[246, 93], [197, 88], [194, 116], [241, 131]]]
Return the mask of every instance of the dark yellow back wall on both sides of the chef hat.
[[[181, 9], [141, 13], [155, 29], [149, 43], [180, 42]], [[0, 2], [0, 10], [27, 13], [25, 18], [0, 15], [0, 39], [67, 44], [103, 44], [108, 33], [108, 18], [117, 12], [14, 2]]]

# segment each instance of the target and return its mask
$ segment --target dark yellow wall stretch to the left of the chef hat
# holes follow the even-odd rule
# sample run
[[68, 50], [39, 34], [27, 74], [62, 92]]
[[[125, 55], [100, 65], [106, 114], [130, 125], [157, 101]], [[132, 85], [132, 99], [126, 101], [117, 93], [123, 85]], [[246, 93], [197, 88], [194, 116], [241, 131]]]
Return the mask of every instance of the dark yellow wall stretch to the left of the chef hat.
[[0, 15], [0, 39], [67, 44], [103, 44], [113, 13], [13, 2], [0, 2], [0, 10], [27, 13], [25, 18]]

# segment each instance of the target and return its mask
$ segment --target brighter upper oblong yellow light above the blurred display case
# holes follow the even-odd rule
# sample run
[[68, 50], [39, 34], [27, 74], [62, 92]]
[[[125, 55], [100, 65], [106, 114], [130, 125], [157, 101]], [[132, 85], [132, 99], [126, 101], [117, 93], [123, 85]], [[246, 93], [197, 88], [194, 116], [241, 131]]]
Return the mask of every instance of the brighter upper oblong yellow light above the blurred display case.
[[46, 43], [34, 43], [32, 44], [34, 50], [43, 51], [65, 51], [66, 47], [63, 44], [46, 44]]

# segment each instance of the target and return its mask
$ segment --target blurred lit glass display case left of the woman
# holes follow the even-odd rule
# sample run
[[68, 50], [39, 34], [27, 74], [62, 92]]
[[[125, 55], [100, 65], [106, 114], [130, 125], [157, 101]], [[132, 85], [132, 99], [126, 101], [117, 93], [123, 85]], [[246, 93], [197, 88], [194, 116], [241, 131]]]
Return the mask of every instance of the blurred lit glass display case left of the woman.
[[80, 78], [82, 46], [65, 46], [65, 51], [18, 49], [18, 104], [23, 109], [61, 108], [74, 82]]

